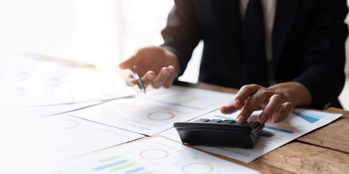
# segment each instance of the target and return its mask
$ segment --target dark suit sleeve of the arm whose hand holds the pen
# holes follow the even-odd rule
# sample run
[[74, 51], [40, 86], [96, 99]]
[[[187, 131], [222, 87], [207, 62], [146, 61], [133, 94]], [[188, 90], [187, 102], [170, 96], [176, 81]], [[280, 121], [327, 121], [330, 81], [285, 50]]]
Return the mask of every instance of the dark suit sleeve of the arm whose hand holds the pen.
[[174, 52], [178, 58], [179, 76], [181, 76], [191, 58], [192, 51], [200, 40], [193, 0], [174, 0], [167, 26], [161, 34], [164, 38], [162, 47]]

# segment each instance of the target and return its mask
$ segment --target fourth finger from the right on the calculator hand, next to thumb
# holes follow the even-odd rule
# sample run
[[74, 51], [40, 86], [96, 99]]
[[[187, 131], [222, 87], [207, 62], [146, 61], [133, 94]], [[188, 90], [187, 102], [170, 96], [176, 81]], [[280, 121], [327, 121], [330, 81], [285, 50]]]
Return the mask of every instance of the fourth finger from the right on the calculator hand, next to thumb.
[[243, 87], [240, 88], [240, 90], [237, 92], [237, 94], [235, 95], [235, 98], [233, 100], [233, 104], [235, 107], [240, 107], [240, 105], [251, 95], [253, 95], [254, 93], [256, 93], [258, 91], [258, 89], [260, 88], [260, 86], [258, 85], [245, 85]]

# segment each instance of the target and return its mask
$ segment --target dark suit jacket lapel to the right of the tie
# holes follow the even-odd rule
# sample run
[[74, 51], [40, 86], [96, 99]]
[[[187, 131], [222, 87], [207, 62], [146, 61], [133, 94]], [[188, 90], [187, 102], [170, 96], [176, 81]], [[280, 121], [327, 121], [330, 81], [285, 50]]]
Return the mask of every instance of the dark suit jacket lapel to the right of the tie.
[[277, 0], [273, 28], [273, 62], [277, 66], [297, 14], [300, 0]]

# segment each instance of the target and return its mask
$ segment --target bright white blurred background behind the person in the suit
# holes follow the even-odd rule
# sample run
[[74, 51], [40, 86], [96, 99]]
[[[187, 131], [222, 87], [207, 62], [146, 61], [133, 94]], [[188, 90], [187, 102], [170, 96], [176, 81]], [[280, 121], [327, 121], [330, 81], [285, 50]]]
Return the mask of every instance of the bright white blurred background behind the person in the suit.
[[[118, 63], [139, 48], [163, 43], [160, 32], [173, 5], [173, 0], [1, 0], [0, 51], [117, 70]], [[180, 80], [197, 82], [201, 51], [202, 43]], [[347, 82], [340, 100], [349, 110], [348, 63], [345, 70]]]

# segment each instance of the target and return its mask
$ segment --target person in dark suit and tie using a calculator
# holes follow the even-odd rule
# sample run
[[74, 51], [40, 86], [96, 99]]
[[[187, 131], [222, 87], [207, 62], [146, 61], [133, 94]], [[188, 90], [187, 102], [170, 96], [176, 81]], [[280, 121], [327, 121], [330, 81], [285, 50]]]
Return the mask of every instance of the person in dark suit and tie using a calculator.
[[[287, 118], [293, 107], [341, 107], [345, 82], [346, 0], [174, 0], [165, 43], [121, 63], [137, 66], [146, 86], [170, 87], [200, 40], [199, 81], [240, 88], [229, 114], [239, 123]], [[136, 85], [131, 77], [129, 86]]]

